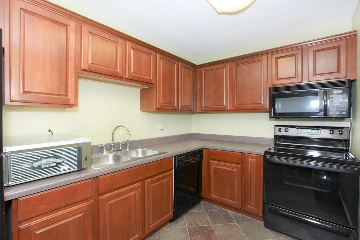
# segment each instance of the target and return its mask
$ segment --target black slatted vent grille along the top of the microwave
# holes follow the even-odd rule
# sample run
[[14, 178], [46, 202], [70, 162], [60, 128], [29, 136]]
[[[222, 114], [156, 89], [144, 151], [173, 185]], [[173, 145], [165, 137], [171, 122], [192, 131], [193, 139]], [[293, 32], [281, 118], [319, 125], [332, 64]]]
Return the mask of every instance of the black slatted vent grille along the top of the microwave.
[[347, 87], [347, 85], [348, 85], [347, 82], [348, 82], [347, 80], [343, 80], [343, 81], [318, 82], [318, 83], [307, 83], [307, 84], [271, 87], [271, 92], [288, 92], [288, 91], [302, 91], [302, 90], [313, 90], [313, 89]]

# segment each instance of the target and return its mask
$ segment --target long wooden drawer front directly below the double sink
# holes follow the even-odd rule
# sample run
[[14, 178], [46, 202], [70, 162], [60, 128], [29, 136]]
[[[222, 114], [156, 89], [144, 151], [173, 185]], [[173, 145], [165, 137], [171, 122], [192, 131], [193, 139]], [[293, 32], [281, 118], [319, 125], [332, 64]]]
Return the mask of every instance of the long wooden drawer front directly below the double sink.
[[156, 162], [124, 169], [99, 177], [99, 194], [116, 189], [118, 187], [140, 181], [158, 173], [168, 171], [174, 166], [174, 158], [165, 158]]

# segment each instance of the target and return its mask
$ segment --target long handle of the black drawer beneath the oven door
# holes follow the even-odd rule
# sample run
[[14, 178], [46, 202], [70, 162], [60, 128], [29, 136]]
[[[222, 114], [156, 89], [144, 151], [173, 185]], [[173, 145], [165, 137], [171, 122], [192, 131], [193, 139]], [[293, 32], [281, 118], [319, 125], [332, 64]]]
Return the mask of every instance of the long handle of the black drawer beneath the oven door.
[[345, 230], [342, 230], [342, 229], [339, 229], [337, 227], [330, 226], [330, 225], [327, 225], [327, 224], [324, 224], [324, 223], [321, 223], [321, 222], [317, 222], [317, 221], [312, 220], [312, 219], [299, 217], [299, 216], [296, 216], [296, 215], [293, 215], [293, 214], [290, 214], [290, 213], [287, 213], [287, 212], [276, 210], [274, 208], [270, 208], [269, 211], [271, 213], [274, 213], [274, 214], [277, 214], [277, 215], [280, 215], [280, 216], [283, 216], [283, 217], [287, 217], [287, 218], [291, 218], [291, 219], [294, 219], [294, 220], [299, 221], [299, 222], [307, 223], [307, 224], [312, 225], [314, 227], [321, 228], [323, 230], [326, 230], [328, 232], [332, 232], [332, 233], [340, 235], [340, 236], [344, 236], [344, 237], [350, 236], [350, 234]]

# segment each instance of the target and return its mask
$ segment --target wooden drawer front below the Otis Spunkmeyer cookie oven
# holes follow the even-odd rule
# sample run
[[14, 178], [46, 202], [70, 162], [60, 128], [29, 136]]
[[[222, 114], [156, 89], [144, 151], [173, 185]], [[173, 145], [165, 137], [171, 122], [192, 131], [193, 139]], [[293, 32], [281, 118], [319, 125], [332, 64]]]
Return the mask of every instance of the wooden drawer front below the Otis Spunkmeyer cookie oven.
[[88, 179], [74, 184], [28, 195], [18, 199], [18, 221], [76, 203], [93, 196], [93, 180]]

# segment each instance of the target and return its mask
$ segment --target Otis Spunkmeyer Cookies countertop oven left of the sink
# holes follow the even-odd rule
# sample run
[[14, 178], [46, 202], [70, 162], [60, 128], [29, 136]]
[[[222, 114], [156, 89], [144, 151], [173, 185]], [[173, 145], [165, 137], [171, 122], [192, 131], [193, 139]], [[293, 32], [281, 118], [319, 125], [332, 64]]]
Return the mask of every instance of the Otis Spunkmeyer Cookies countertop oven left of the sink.
[[4, 186], [91, 167], [91, 139], [53, 135], [4, 139]]

